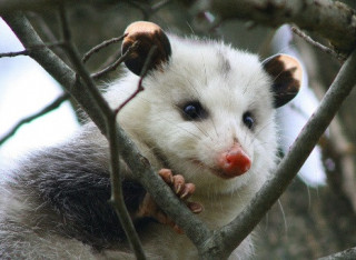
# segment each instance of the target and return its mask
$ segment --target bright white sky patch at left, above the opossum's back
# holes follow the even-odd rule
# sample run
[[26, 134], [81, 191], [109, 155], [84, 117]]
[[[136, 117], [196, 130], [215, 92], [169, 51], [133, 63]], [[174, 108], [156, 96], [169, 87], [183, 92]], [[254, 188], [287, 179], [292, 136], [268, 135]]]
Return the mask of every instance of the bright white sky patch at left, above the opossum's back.
[[[0, 52], [23, 50], [0, 19]], [[60, 86], [28, 57], [0, 59], [0, 138], [62, 93]], [[11, 167], [26, 151], [66, 140], [78, 128], [68, 101], [59, 109], [21, 127], [0, 147], [0, 168]]]

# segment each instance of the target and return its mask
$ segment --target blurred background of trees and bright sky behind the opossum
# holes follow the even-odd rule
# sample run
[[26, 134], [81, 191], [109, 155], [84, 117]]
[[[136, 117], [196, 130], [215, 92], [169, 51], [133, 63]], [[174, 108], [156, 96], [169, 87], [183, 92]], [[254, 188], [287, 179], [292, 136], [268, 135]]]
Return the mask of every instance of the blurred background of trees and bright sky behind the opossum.
[[[340, 68], [337, 59], [305, 42], [288, 26], [267, 28], [240, 20], [217, 23], [214, 12], [191, 12], [191, 1], [117, 2], [70, 7], [72, 37], [82, 54], [103, 40], [121, 36], [130, 22], [149, 20], [181, 36], [224, 40], [235, 48], [258, 53], [261, 60], [277, 52], [297, 57], [305, 67], [303, 91], [293, 103], [278, 110], [281, 157]], [[345, 2], [356, 8], [355, 1]], [[56, 10], [27, 16], [44, 42], [60, 40]], [[317, 34], [310, 36], [327, 44]], [[0, 39], [0, 52], [23, 49], [1, 19]], [[67, 61], [60, 48], [53, 51]], [[96, 72], [119, 54], [120, 43], [111, 44], [90, 58], [88, 69]], [[120, 69], [98, 84], [117, 77]], [[0, 141], [17, 122], [40, 111], [62, 92], [61, 86], [30, 58], [1, 58]], [[356, 246], [355, 96], [353, 91], [299, 178], [257, 228], [255, 259], [314, 259]], [[13, 166], [28, 150], [65, 140], [80, 123], [76, 102], [63, 102], [52, 112], [22, 126], [0, 146], [0, 168]]]

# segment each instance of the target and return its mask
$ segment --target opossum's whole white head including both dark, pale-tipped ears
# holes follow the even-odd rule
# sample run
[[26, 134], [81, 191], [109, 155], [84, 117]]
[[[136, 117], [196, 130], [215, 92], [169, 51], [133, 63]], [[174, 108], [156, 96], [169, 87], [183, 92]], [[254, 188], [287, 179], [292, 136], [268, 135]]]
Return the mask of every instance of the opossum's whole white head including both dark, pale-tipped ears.
[[[141, 51], [127, 61], [135, 74], [145, 67], [137, 57], [145, 61], [149, 44], [165, 42], [146, 66], [145, 91], [120, 114], [127, 131], [197, 191], [231, 192], [251, 178], [264, 182], [276, 161], [275, 109], [298, 92], [298, 62], [283, 54], [260, 62], [220, 42], [162, 37], [156, 24], [148, 30], [151, 23], [144, 22], [141, 31], [141, 23], [128, 28], [123, 42], [127, 48], [145, 39], [145, 51], [138, 43]], [[134, 79], [127, 78], [132, 90]]]

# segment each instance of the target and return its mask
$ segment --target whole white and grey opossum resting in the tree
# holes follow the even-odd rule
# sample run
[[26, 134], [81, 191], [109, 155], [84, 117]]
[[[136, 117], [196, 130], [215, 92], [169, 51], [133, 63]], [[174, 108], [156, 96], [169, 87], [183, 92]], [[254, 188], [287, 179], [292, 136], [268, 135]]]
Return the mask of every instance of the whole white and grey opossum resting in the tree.
[[[198, 218], [210, 229], [227, 224], [276, 166], [275, 109], [297, 94], [300, 64], [285, 54], [260, 61], [220, 41], [166, 34], [150, 22], [135, 22], [126, 33], [122, 51], [137, 46], [126, 76], [105, 93], [111, 108], [147, 71], [145, 90], [119, 111], [118, 123]], [[190, 240], [121, 163], [125, 202], [147, 257], [197, 259]], [[108, 203], [108, 142], [89, 120], [70, 140], [31, 152], [1, 174], [1, 259], [135, 258]], [[248, 237], [230, 259], [253, 252]]]

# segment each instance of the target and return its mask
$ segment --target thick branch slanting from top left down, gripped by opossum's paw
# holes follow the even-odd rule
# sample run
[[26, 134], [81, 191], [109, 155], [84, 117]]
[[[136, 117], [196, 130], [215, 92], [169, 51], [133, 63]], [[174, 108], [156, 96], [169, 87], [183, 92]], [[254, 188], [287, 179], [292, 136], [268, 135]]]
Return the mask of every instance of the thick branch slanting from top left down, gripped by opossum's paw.
[[[16, 12], [3, 16], [2, 18], [16, 32], [24, 47], [42, 44], [41, 39], [22, 13]], [[101, 113], [97, 111], [97, 106], [93, 106], [96, 102], [91, 98], [88, 89], [76, 79], [76, 73], [48, 48], [37, 50], [31, 53], [31, 58], [42, 66], [44, 70], [71, 93], [101, 132], [108, 136], [105, 119], [101, 117]], [[136, 144], [127, 137], [120, 126], [117, 124], [116, 129], [116, 134], [120, 143], [118, 147], [119, 153], [137, 180], [141, 182], [157, 204], [172, 218], [197, 247], [204, 244], [210, 236], [207, 227], [190, 212], [186, 204], [181, 202], [164, 180], [158, 177], [157, 172], [151, 169], [147, 159], [140, 154]]]

